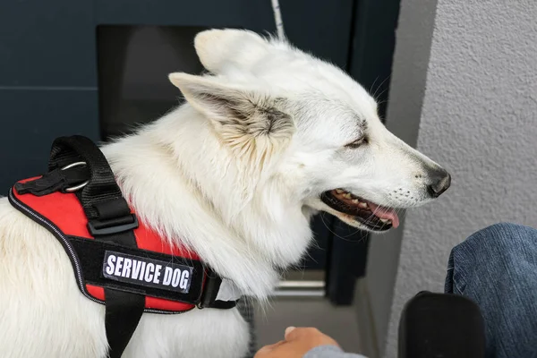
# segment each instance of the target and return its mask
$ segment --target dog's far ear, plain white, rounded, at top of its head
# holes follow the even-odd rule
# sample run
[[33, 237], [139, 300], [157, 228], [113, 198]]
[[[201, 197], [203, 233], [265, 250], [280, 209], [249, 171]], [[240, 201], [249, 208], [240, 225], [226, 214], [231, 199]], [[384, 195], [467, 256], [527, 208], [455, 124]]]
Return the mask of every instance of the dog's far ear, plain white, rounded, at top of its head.
[[205, 30], [194, 38], [194, 47], [203, 66], [213, 73], [224, 72], [234, 65], [247, 71], [267, 55], [270, 45], [248, 30]]

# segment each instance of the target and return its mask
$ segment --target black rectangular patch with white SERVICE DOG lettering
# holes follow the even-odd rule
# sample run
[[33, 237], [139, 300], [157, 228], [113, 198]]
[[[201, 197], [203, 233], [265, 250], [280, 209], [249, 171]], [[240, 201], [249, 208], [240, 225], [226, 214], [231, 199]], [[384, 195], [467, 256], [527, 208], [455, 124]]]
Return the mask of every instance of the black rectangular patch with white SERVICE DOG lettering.
[[132, 285], [188, 294], [193, 268], [116, 251], [106, 251], [102, 274]]

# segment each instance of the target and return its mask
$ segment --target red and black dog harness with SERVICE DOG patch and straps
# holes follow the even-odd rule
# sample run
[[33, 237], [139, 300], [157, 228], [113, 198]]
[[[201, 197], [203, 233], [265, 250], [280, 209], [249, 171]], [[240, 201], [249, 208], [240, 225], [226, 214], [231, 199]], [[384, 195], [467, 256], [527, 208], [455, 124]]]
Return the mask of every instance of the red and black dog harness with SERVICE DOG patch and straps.
[[15, 183], [9, 200], [62, 244], [81, 293], [105, 304], [109, 358], [121, 357], [144, 311], [235, 305], [236, 295], [229, 286], [220, 292], [222, 278], [196, 253], [139, 222], [107, 158], [86, 137], [57, 138], [48, 172]]

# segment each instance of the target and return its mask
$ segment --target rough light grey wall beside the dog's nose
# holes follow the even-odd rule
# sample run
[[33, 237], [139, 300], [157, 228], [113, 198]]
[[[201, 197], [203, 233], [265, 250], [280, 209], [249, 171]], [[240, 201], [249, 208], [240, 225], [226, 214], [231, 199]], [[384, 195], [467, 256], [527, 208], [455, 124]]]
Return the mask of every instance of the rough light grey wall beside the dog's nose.
[[[388, 277], [379, 274], [381, 269], [396, 265], [389, 358], [396, 357], [403, 305], [423, 289], [443, 291], [448, 254], [456, 243], [499, 221], [537, 227], [537, 2], [438, 0], [436, 17], [434, 5], [402, 1], [388, 128], [400, 134], [407, 121], [415, 125], [415, 118], [405, 115], [422, 103], [417, 148], [446, 166], [453, 182], [437, 202], [409, 210], [392, 243], [373, 238], [370, 290], [378, 286], [375, 277]], [[418, 31], [431, 19], [428, 56]], [[414, 57], [429, 57], [427, 66], [416, 66]], [[409, 77], [424, 73], [424, 86], [416, 88], [421, 84]], [[382, 250], [388, 254], [384, 264]], [[372, 293], [371, 302], [376, 298]], [[379, 345], [385, 333], [381, 319], [376, 316]]]

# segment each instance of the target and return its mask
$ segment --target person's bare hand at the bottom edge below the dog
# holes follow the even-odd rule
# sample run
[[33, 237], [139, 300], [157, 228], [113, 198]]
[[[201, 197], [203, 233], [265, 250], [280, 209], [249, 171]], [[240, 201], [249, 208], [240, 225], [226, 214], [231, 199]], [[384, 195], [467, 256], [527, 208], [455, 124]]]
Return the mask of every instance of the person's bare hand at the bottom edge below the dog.
[[302, 358], [312, 348], [319, 345], [337, 345], [337, 342], [317, 328], [286, 329], [285, 340], [274, 345], [265, 345], [254, 358]]

